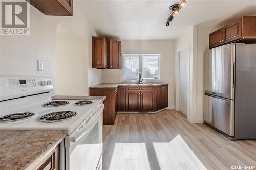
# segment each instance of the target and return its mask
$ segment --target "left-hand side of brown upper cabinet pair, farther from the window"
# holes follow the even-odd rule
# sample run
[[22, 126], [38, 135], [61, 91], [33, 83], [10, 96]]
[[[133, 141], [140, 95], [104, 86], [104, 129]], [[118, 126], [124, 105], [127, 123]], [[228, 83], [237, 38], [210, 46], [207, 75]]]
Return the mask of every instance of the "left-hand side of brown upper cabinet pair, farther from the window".
[[92, 37], [92, 68], [107, 67], [107, 44], [105, 37]]

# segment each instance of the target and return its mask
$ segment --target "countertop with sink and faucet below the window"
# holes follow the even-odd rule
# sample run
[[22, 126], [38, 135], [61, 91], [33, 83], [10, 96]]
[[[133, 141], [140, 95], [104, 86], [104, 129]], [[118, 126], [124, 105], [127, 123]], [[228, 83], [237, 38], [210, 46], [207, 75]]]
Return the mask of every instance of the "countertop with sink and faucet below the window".
[[117, 88], [118, 86], [162, 86], [168, 83], [101, 83], [90, 88]]

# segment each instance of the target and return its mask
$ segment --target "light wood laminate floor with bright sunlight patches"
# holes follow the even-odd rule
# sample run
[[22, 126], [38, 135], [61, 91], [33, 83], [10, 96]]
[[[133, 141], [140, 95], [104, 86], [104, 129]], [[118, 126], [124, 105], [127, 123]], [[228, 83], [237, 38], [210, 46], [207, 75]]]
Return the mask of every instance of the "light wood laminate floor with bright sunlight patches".
[[[256, 166], [256, 141], [230, 141], [172, 109], [118, 114], [103, 126], [103, 169], [231, 169]], [[256, 169], [256, 168], [254, 168]]]

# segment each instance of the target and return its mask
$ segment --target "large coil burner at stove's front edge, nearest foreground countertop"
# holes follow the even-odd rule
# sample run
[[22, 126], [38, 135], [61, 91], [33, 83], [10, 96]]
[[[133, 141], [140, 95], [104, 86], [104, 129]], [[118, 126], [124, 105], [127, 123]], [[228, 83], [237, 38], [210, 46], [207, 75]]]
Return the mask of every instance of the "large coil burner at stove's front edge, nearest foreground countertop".
[[60, 111], [42, 115], [37, 118], [39, 122], [60, 122], [76, 116], [78, 113], [72, 111]]

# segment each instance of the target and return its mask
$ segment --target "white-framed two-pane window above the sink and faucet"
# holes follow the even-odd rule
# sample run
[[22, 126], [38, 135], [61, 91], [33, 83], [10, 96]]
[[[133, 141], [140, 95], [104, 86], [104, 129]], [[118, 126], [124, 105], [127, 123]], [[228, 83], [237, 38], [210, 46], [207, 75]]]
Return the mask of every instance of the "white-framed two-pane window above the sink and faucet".
[[139, 72], [143, 80], [160, 80], [160, 54], [123, 54], [122, 79], [138, 80]]

